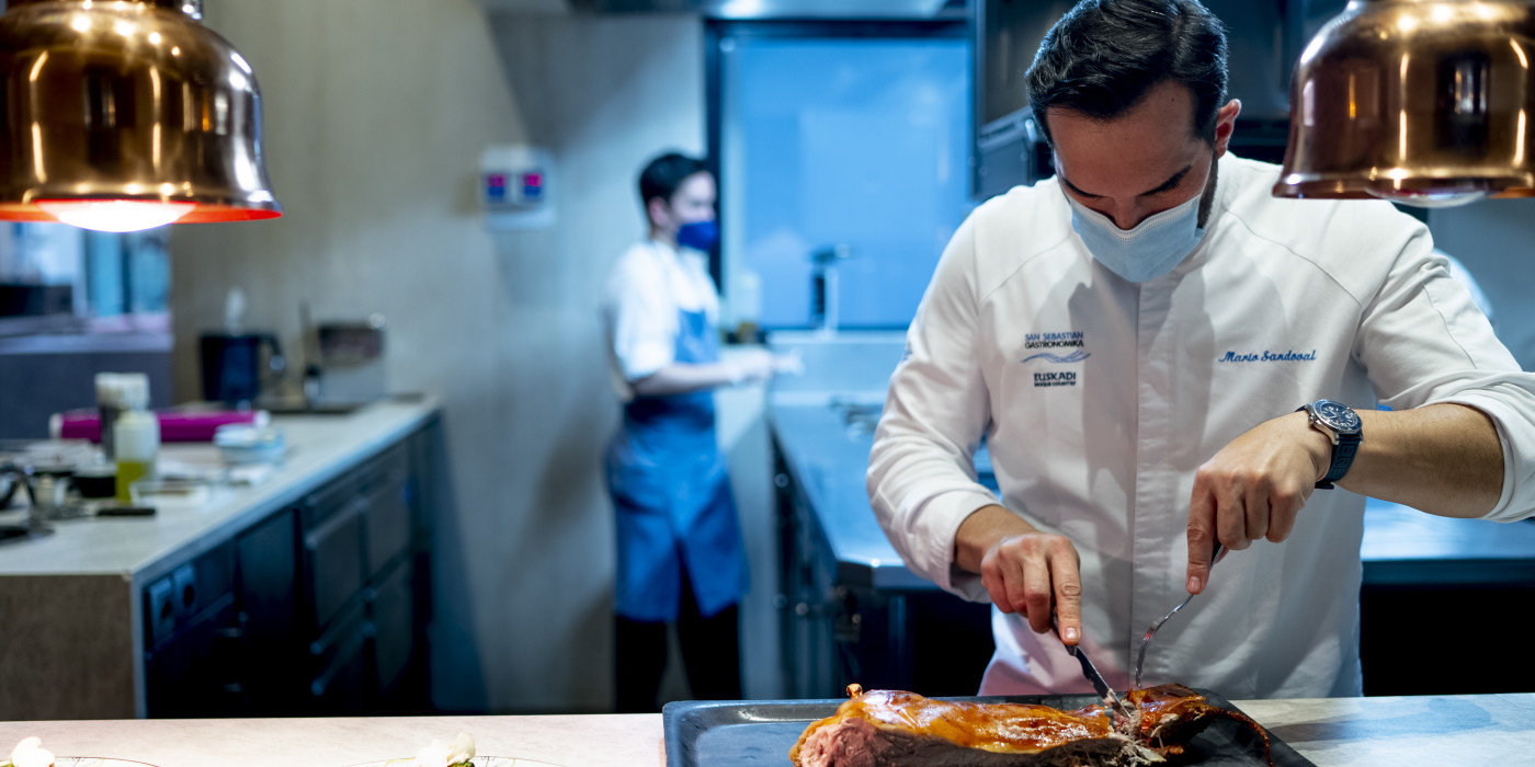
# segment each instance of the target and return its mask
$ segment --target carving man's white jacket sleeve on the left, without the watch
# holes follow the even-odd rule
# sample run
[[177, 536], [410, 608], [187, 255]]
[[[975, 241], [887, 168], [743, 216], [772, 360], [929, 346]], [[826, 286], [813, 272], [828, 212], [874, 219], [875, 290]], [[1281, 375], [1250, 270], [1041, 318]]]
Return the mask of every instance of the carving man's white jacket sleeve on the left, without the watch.
[[869, 502], [886, 537], [918, 575], [985, 601], [979, 575], [953, 565], [955, 532], [973, 511], [998, 503], [976, 482], [975, 451], [990, 422], [978, 364], [979, 296], [975, 215], [938, 262], [890, 377], [869, 457]]

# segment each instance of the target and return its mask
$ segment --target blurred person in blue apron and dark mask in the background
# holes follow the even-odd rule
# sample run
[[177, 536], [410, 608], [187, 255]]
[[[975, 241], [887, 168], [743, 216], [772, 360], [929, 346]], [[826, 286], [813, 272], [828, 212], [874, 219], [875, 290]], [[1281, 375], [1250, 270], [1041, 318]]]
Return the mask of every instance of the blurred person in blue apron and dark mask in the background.
[[694, 698], [741, 696], [746, 552], [712, 390], [795, 370], [761, 350], [720, 359], [708, 252], [718, 241], [715, 186], [675, 152], [640, 172], [645, 241], [614, 264], [603, 304], [623, 422], [608, 446], [617, 517], [616, 687], [620, 712], [657, 709], [666, 630], [675, 623]]

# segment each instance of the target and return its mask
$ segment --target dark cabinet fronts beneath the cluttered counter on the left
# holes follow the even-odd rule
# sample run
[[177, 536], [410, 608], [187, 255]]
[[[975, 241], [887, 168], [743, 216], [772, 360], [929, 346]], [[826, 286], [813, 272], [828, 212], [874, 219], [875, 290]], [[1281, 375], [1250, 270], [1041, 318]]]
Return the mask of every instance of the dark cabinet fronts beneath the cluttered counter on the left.
[[[143, 588], [149, 716], [398, 712], [424, 678], [411, 442]], [[411, 687], [422, 692], [422, 686]]]

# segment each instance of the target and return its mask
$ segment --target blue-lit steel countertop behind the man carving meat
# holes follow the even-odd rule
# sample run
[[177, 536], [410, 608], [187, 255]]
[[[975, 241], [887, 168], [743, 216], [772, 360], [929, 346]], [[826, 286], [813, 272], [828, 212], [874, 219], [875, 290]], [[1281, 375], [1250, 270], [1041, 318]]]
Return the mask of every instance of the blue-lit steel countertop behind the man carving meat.
[[[935, 589], [906, 569], [869, 506], [864, 472], [878, 407], [878, 396], [834, 403], [824, 394], [792, 393], [772, 399], [769, 422], [784, 463], [817, 511], [840, 581]], [[976, 469], [987, 483], [984, 453]], [[1527, 584], [1535, 583], [1535, 523], [1435, 517], [1369, 499], [1360, 554], [1365, 584]]]

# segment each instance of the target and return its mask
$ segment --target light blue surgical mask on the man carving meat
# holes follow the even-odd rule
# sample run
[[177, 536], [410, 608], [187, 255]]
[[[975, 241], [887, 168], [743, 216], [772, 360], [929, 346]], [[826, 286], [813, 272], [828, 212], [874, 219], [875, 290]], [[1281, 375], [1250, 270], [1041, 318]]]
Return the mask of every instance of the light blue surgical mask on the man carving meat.
[[1105, 268], [1131, 282], [1145, 282], [1173, 272], [1205, 236], [1205, 230], [1199, 227], [1199, 199], [1203, 195], [1194, 195], [1188, 202], [1124, 230], [1108, 216], [1071, 199], [1065, 190], [1061, 193], [1071, 204], [1071, 229], [1082, 238], [1087, 250]]

